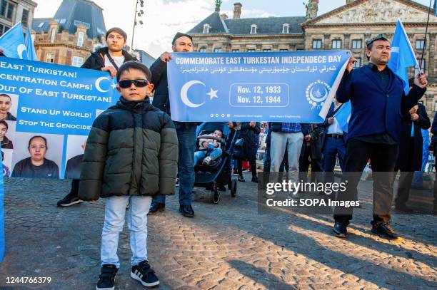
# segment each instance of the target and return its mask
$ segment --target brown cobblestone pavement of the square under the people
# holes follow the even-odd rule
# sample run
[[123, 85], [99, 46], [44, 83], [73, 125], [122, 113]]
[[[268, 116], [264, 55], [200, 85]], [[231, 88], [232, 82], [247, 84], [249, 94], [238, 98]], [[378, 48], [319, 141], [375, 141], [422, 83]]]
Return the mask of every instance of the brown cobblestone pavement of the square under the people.
[[[331, 235], [328, 215], [258, 214], [256, 185], [246, 176], [219, 204], [196, 189], [196, 217], [182, 217], [177, 197], [149, 217], [149, 260], [157, 289], [436, 289], [437, 229], [431, 215], [395, 215], [403, 239], [370, 232], [354, 216], [349, 239]], [[371, 184], [360, 192], [371, 207]], [[6, 180], [6, 257], [0, 289], [95, 289], [100, 274], [104, 200], [68, 208], [56, 201], [69, 181]], [[119, 242], [116, 289], [144, 289], [129, 276], [129, 233]], [[6, 277], [50, 276], [50, 284], [6, 284]]]

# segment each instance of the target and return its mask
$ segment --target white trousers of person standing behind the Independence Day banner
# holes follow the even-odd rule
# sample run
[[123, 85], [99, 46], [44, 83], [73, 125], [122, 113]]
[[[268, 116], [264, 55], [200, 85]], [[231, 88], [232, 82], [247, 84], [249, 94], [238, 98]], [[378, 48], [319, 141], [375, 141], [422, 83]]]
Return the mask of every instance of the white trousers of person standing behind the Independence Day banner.
[[288, 154], [288, 168], [289, 172], [299, 171], [299, 157], [301, 155], [303, 134], [272, 132], [271, 133], [271, 147], [270, 147], [270, 172], [278, 172], [279, 166], [285, 155], [285, 150]]

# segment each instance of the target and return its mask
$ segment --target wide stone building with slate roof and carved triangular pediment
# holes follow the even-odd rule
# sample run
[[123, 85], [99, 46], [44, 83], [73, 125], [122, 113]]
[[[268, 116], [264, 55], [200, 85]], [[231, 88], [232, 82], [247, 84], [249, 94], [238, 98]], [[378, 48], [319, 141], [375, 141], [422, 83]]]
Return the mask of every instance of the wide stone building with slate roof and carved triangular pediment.
[[[309, 0], [306, 16], [241, 19], [242, 4], [234, 4], [233, 18], [216, 11], [189, 33], [199, 52], [300, 51], [348, 49], [366, 64], [366, 39], [385, 33], [393, 36], [400, 18], [420, 61], [428, 7], [411, 0], [346, 0], [343, 6], [318, 16], [319, 0]], [[431, 9], [422, 68], [430, 85], [422, 98], [428, 114], [437, 110], [437, 17]], [[417, 69], [409, 71], [412, 77]]]

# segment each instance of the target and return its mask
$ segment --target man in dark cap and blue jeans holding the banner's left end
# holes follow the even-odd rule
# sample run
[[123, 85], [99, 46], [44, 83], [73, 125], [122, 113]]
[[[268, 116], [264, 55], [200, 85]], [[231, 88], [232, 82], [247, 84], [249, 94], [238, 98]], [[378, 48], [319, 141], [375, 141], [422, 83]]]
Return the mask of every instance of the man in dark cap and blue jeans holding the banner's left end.
[[[173, 52], [193, 52], [193, 38], [186, 33], [178, 32], [171, 41]], [[153, 105], [167, 114], [170, 112], [169, 83], [167, 80], [167, 63], [171, 61], [171, 53], [164, 52], [151, 65], [152, 83], [154, 84]], [[174, 122], [179, 142], [179, 212], [185, 217], [194, 217], [191, 207], [191, 194], [194, 187], [194, 149], [196, 148], [197, 123]], [[151, 204], [150, 212], [162, 212], [165, 209], [165, 195], [157, 195]]]

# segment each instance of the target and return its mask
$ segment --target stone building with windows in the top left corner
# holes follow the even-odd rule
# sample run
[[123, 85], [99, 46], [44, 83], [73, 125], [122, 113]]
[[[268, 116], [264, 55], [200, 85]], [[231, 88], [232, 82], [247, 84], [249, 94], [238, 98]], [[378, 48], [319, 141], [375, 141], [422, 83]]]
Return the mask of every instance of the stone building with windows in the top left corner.
[[0, 0], [0, 36], [19, 22], [24, 31], [31, 27], [36, 6], [31, 0]]

